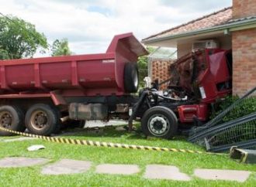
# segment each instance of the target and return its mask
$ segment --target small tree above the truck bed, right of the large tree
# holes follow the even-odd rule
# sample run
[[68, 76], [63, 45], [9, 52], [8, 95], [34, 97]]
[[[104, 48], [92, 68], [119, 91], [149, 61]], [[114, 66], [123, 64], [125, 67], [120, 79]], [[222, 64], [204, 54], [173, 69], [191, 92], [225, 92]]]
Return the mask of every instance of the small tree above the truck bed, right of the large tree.
[[56, 39], [51, 46], [51, 52], [51, 56], [67, 56], [72, 54], [67, 39], [61, 39], [61, 41]]

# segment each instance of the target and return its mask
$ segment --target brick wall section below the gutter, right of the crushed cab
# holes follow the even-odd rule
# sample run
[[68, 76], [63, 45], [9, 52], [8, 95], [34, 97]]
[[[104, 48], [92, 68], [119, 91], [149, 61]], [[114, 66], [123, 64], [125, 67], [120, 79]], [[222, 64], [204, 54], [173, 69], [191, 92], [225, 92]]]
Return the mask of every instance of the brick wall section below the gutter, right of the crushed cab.
[[232, 33], [233, 94], [241, 96], [256, 86], [256, 29]]

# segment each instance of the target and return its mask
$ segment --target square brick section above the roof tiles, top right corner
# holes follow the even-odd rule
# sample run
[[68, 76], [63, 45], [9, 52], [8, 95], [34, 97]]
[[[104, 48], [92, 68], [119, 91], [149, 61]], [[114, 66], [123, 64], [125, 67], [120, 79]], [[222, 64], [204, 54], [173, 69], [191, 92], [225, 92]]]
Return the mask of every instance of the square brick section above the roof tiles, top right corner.
[[233, 18], [256, 15], [256, 0], [233, 0]]

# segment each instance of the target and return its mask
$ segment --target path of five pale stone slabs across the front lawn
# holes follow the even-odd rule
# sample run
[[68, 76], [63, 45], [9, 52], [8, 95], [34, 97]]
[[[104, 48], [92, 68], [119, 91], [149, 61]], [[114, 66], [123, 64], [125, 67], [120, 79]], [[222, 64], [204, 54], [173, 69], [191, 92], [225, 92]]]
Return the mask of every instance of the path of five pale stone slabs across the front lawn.
[[[48, 163], [46, 158], [24, 158], [9, 157], [0, 159], [0, 168], [26, 167], [33, 165], [43, 165], [41, 173], [43, 175], [70, 175], [75, 173], [85, 173], [92, 169], [92, 162], [62, 159], [55, 163]], [[142, 171], [138, 165], [96, 165], [95, 173], [107, 175], [136, 175]], [[227, 180], [235, 182], [245, 182], [251, 172], [237, 170], [202, 169], [196, 168], [193, 175], [180, 172], [174, 165], [146, 165], [143, 174], [144, 179], [168, 179], [178, 181], [190, 181], [197, 177], [207, 180]]]

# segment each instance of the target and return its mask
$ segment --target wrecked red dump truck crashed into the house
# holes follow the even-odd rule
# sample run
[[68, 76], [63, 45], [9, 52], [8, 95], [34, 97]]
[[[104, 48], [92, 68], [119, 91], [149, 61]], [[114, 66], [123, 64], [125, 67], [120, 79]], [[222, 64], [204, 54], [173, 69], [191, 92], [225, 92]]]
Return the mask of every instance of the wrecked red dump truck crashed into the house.
[[[207, 49], [174, 65], [168, 90], [138, 89], [137, 59], [147, 54], [132, 33], [106, 53], [0, 61], [0, 125], [49, 135], [61, 119], [141, 121], [144, 134], [171, 138], [178, 121], [206, 121], [209, 104], [230, 93], [230, 52]], [[1, 135], [9, 133], [0, 131]]]

